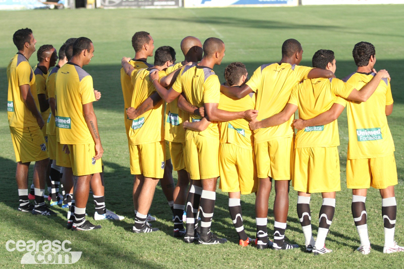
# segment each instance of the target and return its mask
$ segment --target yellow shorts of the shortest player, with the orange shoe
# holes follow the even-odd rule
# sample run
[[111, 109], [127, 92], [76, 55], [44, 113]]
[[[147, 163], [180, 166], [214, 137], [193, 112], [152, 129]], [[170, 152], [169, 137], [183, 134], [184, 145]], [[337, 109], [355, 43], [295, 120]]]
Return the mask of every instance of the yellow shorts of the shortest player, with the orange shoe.
[[250, 194], [258, 189], [254, 150], [225, 143], [219, 147], [219, 188], [224, 192]]

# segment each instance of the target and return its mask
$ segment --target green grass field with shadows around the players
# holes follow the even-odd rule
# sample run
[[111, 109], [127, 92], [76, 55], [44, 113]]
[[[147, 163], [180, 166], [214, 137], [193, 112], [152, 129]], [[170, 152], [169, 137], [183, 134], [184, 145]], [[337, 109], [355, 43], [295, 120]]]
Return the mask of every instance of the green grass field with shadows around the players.
[[[402, 21], [404, 5], [379, 6], [326, 6], [295, 8], [222, 8], [222, 9], [120, 9], [120, 10], [38, 10], [0, 12], [0, 22], [6, 26], [0, 32], [0, 267], [19, 268], [25, 252], [8, 252], [8, 240], [70, 240], [72, 251], [82, 251], [75, 268], [351, 268], [402, 267], [403, 253], [383, 254], [384, 234], [381, 218], [381, 198], [377, 190], [368, 192], [368, 228], [372, 252], [364, 256], [355, 249], [359, 246], [354, 221], [350, 212], [351, 192], [345, 185], [347, 151], [346, 113], [339, 119], [341, 188], [337, 193], [334, 221], [326, 240], [334, 252], [323, 256], [305, 253], [303, 248], [290, 251], [259, 251], [253, 247], [238, 246], [238, 237], [228, 212], [226, 193], [218, 190], [212, 229], [229, 242], [224, 245], [200, 246], [185, 244], [172, 237], [172, 214], [160, 186], [156, 191], [150, 213], [157, 217], [154, 227], [161, 231], [152, 234], [133, 234], [132, 176], [129, 171], [129, 152], [123, 124], [123, 98], [119, 78], [123, 56], [133, 57], [131, 36], [145, 30], [155, 40], [156, 48], [171, 45], [177, 50], [177, 59], [183, 57], [180, 40], [194, 35], [204, 41], [215, 36], [226, 44], [226, 56], [215, 72], [223, 81], [227, 64], [238, 61], [247, 66], [250, 74], [262, 64], [281, 58], [281, 45], [287, 38], [299, 40], [304, 48], [302, 65], [311, 65], [314, 52], [320, 48], [335, 51], [336, 76], [343, 78], [356, 70], [351, 56], [354, 44], [369, 41], [376, 46], [376, 69], [387, 69], [392, 78], [394, 111], [388, 117], [395, 142], [398, 172], [396, 186], [397, 224], [395, 239], [404, 244], [404, 94], [401, 85], [404, 46]], [[29, 27], [37, 39], [36, 47], [51, 43], [59, 49], [69, 37], [89, 37], [95, 48], [95, 57], [84, 69], [94, 80], [94, 88], [103, 96], [94, 104], [100, 137], [105, 148], [105, 185], [107, 208], [122, 214], [122, 222], [93, 221], [92, 197], [87, 205], [88, 219], [103, 225], [103, 229], [74, 233], [65, 228], [66, 210], [56, 209], [56, 217], [32, 216], [17, 211], [18, 194], [15, 182], [15, 156], [7, 122], [6, 68], [16, 52], [13, 33]], [[36, 64], [36, 53], [31, 65]], [[153, 59], [149, 60], [153, 63]], [[400, 116], [401, 115], [401, 116]], [[32, 175], [32, 166], [31, 166]], [[176, 177], [176, 173], [174, 173]], [[31, 180], [30, 180], [31, 183]], [[274, 194], [274, 193], [273, 193]], [[268, 212], [269, 234], [273, 229], [273, 196]], [[286, 236], [292, 243], [304, 246], [304, 236], [296, 213], [297, 194], [290, 191], [290, 208]], [[242, 197], [244, 228], [255, 237], [255, 196]], [[317, 234], [321, 196], [313, 195], [312, 225]], [[272, 237], [272, 236], [271, 236]], [[47, 266], [47, 267], [46, 267]], [[25, 265], [26, 268], [52, 265]], [[67, 267], [72, 265], [58, 265]]]

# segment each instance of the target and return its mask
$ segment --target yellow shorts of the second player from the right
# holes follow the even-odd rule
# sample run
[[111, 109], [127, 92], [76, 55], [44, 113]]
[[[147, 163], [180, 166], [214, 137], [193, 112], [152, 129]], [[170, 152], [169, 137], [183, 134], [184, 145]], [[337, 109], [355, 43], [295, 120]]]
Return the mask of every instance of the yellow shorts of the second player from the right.
[[316, 193], [341, 190], [336, 146], [295, 148], [293, 172], [292, 186], [295, 191]]

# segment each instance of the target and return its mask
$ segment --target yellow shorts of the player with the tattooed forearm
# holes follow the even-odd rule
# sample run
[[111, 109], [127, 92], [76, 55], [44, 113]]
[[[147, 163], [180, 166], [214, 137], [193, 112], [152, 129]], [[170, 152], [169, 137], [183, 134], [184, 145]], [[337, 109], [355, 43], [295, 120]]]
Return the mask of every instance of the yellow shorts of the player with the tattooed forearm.
[[94, 144], [68, 145], [70, 150], [70, 162], [72, 164], [73, 175], [80, 177], [102, 173], [101, 159], [94, 159]]

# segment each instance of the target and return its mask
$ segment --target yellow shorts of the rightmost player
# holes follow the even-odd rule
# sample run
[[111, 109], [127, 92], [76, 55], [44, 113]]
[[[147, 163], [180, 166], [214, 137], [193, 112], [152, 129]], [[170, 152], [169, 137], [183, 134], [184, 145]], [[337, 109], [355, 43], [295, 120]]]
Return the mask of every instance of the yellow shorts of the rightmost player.
[[348, 189], [385, 189], [398, 184], [394, 153], [369, 159], [346, 161], [346, 187]]

